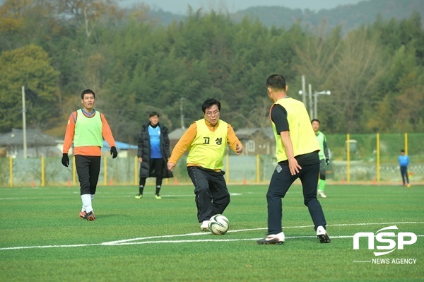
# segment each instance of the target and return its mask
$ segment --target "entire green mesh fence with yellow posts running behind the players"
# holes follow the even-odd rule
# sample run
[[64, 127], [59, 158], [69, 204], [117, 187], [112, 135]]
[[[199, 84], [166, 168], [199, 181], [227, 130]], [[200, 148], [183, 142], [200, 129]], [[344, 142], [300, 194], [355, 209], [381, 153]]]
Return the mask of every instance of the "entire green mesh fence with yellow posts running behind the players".
[[[331, 163], [327, 167], [328, 182], [393, 183], [401, 182], [398, 156], [405, 149], [411, 159], [412, 183], [424, 182], [424, 134], [352, 134], [327, 135]], [[135, 152], [134, 152], [135, 153]], [[183, 156], [174, 170], [174, 178], [165, 185], [189, 184]], [[227, 155], [225, 179], [234, 184], [264, 184], [271, 179], [276, 159], [273, 155]], [[134, 185], [139, 183], [136, 155], [126, 158], [102, 156], [99, 185]], [[147, 184], [153, 184], [148, 178]], [[60, 158], [0, 158], [0, 187], [78, 186], [71, 158], [69, 168]]]

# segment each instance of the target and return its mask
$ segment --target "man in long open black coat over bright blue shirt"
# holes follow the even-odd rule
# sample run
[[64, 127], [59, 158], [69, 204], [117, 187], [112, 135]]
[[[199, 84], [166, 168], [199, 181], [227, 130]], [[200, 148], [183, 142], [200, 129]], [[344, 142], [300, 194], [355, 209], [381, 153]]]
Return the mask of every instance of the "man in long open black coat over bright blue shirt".
[[156, 199], [159, 195], [163, 178], [172, 177], [172, 172], [167, 169], [167, 160], [170, 158], [170, 139], [167, 128], [159, 123], [159, 114], [151, 112], [148, 124], [144, 124], [139, 132], [139, 163], [140, 184], [139, 194], [136, 199], [143, 197], [143, 189], [147, 177], [156, 177]]

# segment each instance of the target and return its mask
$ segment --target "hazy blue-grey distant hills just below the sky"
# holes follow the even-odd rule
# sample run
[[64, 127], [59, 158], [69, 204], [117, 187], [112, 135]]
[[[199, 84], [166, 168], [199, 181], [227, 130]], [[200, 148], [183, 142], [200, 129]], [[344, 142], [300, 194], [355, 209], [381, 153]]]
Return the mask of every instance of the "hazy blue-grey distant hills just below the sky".
[[[346, 31], [358, 28], [360, 25], [374, 22], [377, 15], [381, 16], [383, 20], [390, 20], [391, 18], [401, 20], [409, 18], [414, 11], [420, 13], [421, 23], [424, 25], [423, 0], [370, 0], [355, 5], [343, 5], [319, 11], [291, 9], [283, 6], [255, 6], [230, 13], [229, 16], [236, 22], [248, 16], [259, 20], [268, 27], [274, 25], [278, 28], [288, 28], [297, 22], [304, 26], [316, 26], [325, 20], [329, 29], [342, 25], [343, 32], [346, 33]], [[161, 9], [151, 10], [149, 15], [152, 20], [163, 23], [163, 25], [186, 18], [186, 16], [165, 12]]]

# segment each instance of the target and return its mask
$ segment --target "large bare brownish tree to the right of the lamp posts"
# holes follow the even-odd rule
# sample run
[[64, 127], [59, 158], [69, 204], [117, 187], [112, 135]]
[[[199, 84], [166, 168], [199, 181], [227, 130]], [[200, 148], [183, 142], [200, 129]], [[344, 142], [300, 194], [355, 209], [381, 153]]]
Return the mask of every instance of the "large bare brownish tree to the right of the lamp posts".
[[382, 66], [377, 38], [366, 28], [349, 33], [339, 50], [338, 60], [329, 74], [333, 119], [339, 129], [355, 132], [360, 128], [363, 105], [377, 85]]

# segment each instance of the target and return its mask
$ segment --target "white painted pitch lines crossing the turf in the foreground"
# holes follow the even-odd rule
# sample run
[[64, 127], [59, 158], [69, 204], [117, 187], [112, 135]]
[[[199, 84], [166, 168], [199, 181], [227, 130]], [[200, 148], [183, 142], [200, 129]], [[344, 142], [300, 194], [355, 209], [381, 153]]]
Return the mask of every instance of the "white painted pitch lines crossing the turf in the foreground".
[[[346, 225], [388, 225], [388, 224], [422, 224], [424, 222], [391, 222], [391, 223], [353, 223], [353, 224], [333, 224], [327, 226], [346, 226]], [[311, 228], [313, 225], [304, 225], [304, 226], [288, 226], [286, 228]], [[252, 228], [252, 229], [240, 229], [240, 230], [230, 230], [228, 233], [236, 232], [245, 232], [245, 231], [254, 231], [254, 230], [264, 230], [266, 228]], [[8, 249], [47, 249], [54, 247], [91, 247], [91, 246], [119, 246], [119, 245], [141, 245], [141, 244], [168, 244], [168, 243], [186, 243], [186, 242], [240, 242], [240, 241], [255, 241], [262, 238], [245, 238], [245, 239], [203, 239], [203, 240], [161, 240], [161, 241], [143, 241], [143, 242], [131, 242], [136, 240], [149, 240], [157, 238], [170, 238], [170, 237], [184, 237], [184, 236], [196, 236], [196, 235], [211, 235], [211, 233], [201, 232], [201, 233], [188, 233], [180, 235], [163, 235], [163, 236], [151, 236], [151, 237], [139, 237], [119, 241], [111, 242], [102, 242], [98, 244], [78, 244], [78, 245], [42, 245], [42, 246], [23, 246], [23, 247], [2, 247], [0, 251]], [[418, 237], [424, 237], [424, 235], [417, 235]], [[219, 237], [219, 236], [217, 236]], [[296, 239], [296, 238], [314, 238], [315, 236], [292, 236], [286, 237], [286, 239]], [[220, 237], [219, 237], [220, 238]], [[331, 239], [345, 239], [353, 238], [352, 236], [331, 236]]]

